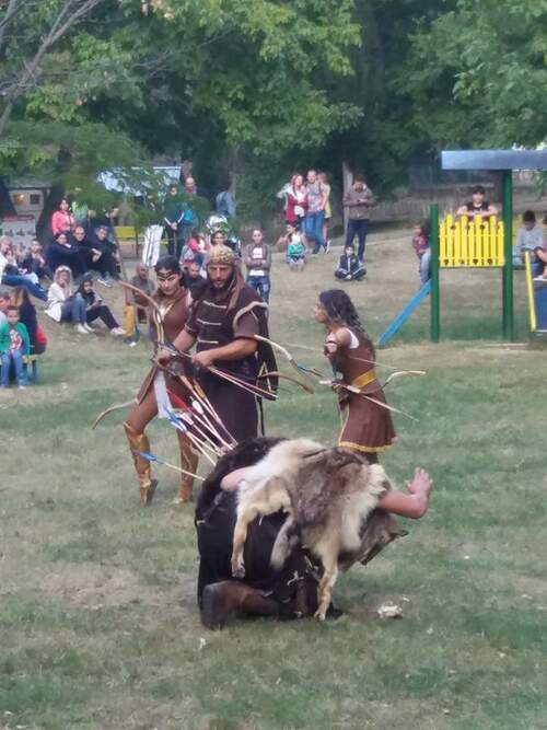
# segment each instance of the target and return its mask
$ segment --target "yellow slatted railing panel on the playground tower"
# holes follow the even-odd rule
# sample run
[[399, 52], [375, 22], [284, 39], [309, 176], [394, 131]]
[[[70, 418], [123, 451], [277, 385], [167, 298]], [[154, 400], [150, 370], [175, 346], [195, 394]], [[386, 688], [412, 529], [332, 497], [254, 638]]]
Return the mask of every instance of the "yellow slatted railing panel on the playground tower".
[[503, 221], [494, 217], [446, 218], [439, 225], [441, 268], [487, 268], [503, 266]]

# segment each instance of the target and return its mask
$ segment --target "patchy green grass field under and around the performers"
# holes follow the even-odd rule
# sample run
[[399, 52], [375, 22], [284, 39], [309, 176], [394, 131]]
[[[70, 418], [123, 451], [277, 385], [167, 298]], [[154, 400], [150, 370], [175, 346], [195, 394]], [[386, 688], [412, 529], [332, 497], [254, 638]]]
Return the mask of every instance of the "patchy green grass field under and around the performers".
[[[417, 287], [412, 256], [408, 240], [372, 245], [368, 280], [348, 286], [374, 336]], [[331, 269], [333, 255], [302, 275], [276, 262], [275, 339], [321, 347], [311, 313]], [[427, 467], [435, 491], [408, 537], [339, 579], [347, 615], [326, 625], [201, 627], [193, 509], [171, 505], [176, 475], [159, 472], [143, 510], [123, 415], [90, 428], [131, 397], [148, 347], [46, 324], [42, 383], [0, 394], [0, 728], [547, 728], [546, 354], [501, 346], [500, 279], [443, 275], [443, 343], [427, 341], [426, 304], [379, 354], [428, 370], [389, 386], [419, 421], [397, 419], [383, 463], [399, 484]], [[118, 293], [105, 297], [119, 311]], [[516, 310], [526, 340], [520, 274]], [[326, 370], [319, 351], [290, 349]], [[334, 443], [334, 396], [283, 383], [267, 427]], [[150, 434], [176, 459], [165, 424]], [[370, 616], [383, 600], [403, 605], [401, 621]]]

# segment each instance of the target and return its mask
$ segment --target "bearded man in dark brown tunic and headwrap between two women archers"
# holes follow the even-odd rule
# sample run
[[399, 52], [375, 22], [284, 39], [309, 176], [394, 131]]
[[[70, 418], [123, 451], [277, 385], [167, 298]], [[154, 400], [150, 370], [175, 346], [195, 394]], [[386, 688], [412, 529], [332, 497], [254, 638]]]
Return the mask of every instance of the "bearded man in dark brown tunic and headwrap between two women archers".
[[[240, 442], [257, 436], [256, 396], [208, 368], [216, 366], [242, 384], [268, 387], [260, 370], [275, 371], [276, 361], [271, 348], [255, 339], [255, 335], [268, 337], [268, 305], [244, 282], [228, 246], [211, 251], [207, 274], [207, 287], [174, 344], [184, 351], [196, 344], [193, 361], [199, 383], [229, 433]], [[162, 354], [162, 359], [168, 357], [170, 352]]]

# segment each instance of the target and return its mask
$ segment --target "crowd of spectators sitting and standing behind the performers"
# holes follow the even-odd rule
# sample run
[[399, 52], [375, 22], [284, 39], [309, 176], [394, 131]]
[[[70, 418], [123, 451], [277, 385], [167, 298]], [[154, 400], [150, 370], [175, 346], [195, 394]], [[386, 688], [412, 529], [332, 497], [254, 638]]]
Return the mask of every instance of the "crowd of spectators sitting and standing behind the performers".
[[[184, 271], [185, 285], [193, 296], [199, 296], [206, 277], [206, 264], [211, 251], [219, 245], [231, 247], [238, 265], [246, 270], [246, 281], [269, 301], [272, 246], [261, 230], [254, 229], [246, 245], [236, 234], [235, 201], [225, 189], [216, 196], [216, 211], [208, 218], [198, 212], [194, 199], [200, 196], [194, 177], [172, 184], [159, 213], [160, 237], [167, 253], [176, 256]], [[282, 200], [284, 232], [277, 248], [284, 252], [289, 270], [302, 273], [312, 255], [330, 251], [331, 186], [324, 172], [309, 170], [294, 173], [279, 190]], [[361, 175], [342, 197], [347, 212], [345, 245], [334, 267], [339, 281], [362, 281], [366, 275], [364, 255], [371, 210], [375, 205], [372, 190]], [[95, 281], [112, 287], [123, 276], [123, 259], [116, 236], [118, 209], [112, 208], [96, 217], [81, 200], [60, 200], [50, 219], [51, 236], [47, 245], [34, 239], [27, 248], [0, 236], [0, 384], [27, 384], [28, 364], [43, 354], [47, 339], [36, 316], [31, 298], [44, 302], [44, 312], [56, 323], [68, 323], [79, 335], [96, 332], [96, 323], [115, 337], [125, 337], [135, 345], [140, 336], [139, 325], [147, 323], [146, 311], [126, 293], [124, 322], [120, 324], [107, 303], [95, 290]], [[498, 209], [486, 200], [485, 188], [476, 186], [470, 199], [458, 216], [488, 219]], [[547, 218], [543, 221], [547, 224]], [[430, 278], [431, 253], [429, 222], [416, 224], [412, 247], [419, 262], [423, 285]], [[357, 248], [354, 242], [357, 239]], [[513, 263], [523, 264], [524, 253], [532, 258], [536, 279], [547, 279], [547, 251], [544, 229], [533, 211], [522, 217], [517, 231]], [[160, 253], [158, 241], [156, 255]], [[149, 262], [149, 265], [155, 263]], [[149, 266], [138, 264], [131, 283], [147, 294], [154, 291]], [[93, 326], [95, 324], [95, 326]]]

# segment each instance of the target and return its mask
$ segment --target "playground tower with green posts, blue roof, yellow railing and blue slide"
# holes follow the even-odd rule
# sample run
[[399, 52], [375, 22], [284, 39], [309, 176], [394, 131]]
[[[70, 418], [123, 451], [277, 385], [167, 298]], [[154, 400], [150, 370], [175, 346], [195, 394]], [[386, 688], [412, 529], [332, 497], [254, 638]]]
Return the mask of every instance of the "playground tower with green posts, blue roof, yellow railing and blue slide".
[[[502, 186], [502, 221], [480, 218], [439, 224], [439, 206], [430, 210], [431, 281], [397, 314], [379, 339], [385, 345], [418, 304], [431, 293], [431, 341], [441, 337], [440, 270], [443, 268], [500, 268], [502, 270], [502, 329], [514, 340], [513, 308], [513, 170], [547, 170], [547, 150], [449, 150], [441, 153], [442, 170], [499, 171]], [[547, 296], [547, 294], [546, 294]]]

